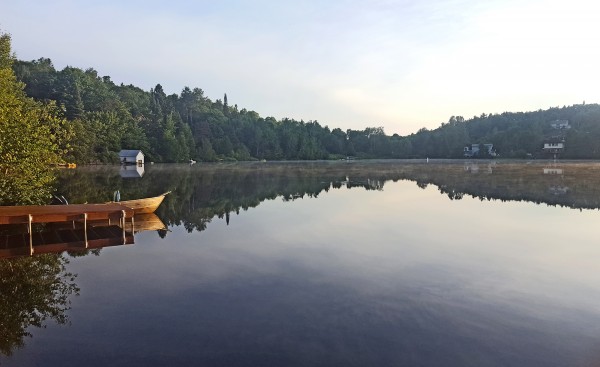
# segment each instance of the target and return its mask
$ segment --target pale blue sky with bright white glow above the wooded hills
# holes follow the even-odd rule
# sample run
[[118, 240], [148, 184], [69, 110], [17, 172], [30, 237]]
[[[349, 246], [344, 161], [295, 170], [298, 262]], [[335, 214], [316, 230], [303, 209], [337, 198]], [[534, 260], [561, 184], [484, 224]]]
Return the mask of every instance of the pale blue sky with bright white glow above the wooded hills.
[[407, 135], [600, 103], [591, 0], [1, 0], [17, 58], [261, 116]]

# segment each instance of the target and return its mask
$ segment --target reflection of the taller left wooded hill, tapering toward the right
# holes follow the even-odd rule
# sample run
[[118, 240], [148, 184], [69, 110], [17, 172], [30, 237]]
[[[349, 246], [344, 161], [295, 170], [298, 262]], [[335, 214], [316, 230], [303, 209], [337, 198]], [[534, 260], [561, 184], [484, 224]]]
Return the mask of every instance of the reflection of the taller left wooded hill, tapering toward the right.
[[[168, 225], [181, 225], [191, 232], [206, 229], [212, 218], [231, 215], [258, 206], [264, 200], [293, 201], [316, 198], [331, 188], [362, 187], [382, 190], [385, 180], [373, 179], [357, 171], [330, 170], [330, 164], [240, 163], [200, 167], [154, 165], [142, 179], [127, 180], [110, 167], [64, 172], [60, 194], [72, 203], [103, 202], [120, 190], [121, 198], [152, 196], [171, 190], [157, 214]], [[164, 235], [164, 234], [163, 234]]]

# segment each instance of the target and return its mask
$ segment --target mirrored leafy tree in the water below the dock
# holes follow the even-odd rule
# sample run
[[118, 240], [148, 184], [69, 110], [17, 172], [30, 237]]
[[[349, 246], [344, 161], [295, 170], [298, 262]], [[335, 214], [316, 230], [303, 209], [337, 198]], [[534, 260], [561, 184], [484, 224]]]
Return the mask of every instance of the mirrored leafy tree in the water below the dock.
[[67, 263], [57, 254], [0, 260], [0, 353], [23, 347], [30, 327], [67, 323], [69, 296], [79, 294]]

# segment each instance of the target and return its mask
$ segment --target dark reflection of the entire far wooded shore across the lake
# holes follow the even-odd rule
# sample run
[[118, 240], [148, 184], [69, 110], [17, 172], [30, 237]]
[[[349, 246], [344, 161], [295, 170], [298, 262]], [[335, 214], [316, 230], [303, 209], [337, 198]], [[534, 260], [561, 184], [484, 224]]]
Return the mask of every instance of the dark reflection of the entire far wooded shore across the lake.
[[[262, 201], [316, 198], [331, 189], [383, 190], [387, 181], [437, 186], [452, 200], [516, 200], [572, 208], [600, 207], [600, 165], [415, 161], [279, 162], [148, 166], [142, 179], [123, 179], [115, 168], [65, 172], [61, 194], [71, 202], [153, 196], [171, 190], [157, 214], [168, 225], [202, 231], [215, 217], [226, 218]], [[545, 169], [546, 168], [546, 169]], [[559, 174], [547, 174], [548, 172]], [[565, 189], [566, 188], [566, 189]], [[166, 233], [163, 233], [163, 236]]]

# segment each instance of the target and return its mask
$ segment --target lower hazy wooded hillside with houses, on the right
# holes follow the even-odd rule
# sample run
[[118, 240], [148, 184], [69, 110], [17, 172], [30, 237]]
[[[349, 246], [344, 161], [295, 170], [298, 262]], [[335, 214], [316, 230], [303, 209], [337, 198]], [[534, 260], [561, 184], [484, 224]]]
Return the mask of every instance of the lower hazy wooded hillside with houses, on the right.
[[[547, 157], [555, 152], [560, 158], [600, 158], [600, 105], [482, 114], [469, 120], [451, 117], [439, 128], [421, 129], [408, 139], [417, 157], [459, 158], [465, 146], [490, 143], [505, 158]], [[544, 149], [547, 143], [564, 148]]]

